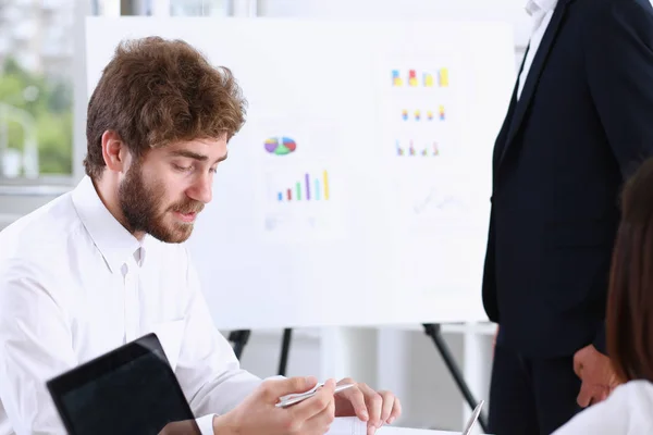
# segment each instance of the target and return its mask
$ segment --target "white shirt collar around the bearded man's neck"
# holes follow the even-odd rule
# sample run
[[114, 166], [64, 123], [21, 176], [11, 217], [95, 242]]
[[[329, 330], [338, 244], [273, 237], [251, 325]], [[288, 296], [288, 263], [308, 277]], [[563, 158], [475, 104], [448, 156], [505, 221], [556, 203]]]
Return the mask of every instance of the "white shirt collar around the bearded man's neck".
[[143, 263], [145, 248], [107, 209], [90, 177], [85, 176], [79, 182], [73, 190], [72, 199], [82, 224], [112, 273], [121, 271], [122, 265], [131, 259], [138, 264], [138, 249]]

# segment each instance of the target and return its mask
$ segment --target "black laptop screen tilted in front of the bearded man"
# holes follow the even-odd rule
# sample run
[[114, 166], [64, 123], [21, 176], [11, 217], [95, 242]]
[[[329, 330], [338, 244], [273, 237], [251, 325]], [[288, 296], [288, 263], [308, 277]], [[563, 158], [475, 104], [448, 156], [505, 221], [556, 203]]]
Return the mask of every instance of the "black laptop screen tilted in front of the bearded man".
[[71, 435], [199, 435], [155, 334], [47, 383]]

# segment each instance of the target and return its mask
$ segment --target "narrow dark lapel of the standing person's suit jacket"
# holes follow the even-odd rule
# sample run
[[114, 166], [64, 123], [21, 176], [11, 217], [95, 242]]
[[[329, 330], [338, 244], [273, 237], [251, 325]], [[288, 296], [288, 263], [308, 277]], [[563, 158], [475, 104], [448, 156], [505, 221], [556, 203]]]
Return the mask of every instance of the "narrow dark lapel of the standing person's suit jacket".
[[549, 51], [555, 40], [557, 32], [563, 22], [563, 17], [565, 16], [565, 11], [567, 10], [567, 5], [569, 0], [560, 0], [555, 8], [555, 11], [551, 17], [551, 22], [546, 27], [546, 32], [542, 37], [542, 41], [540, 42], [540, 47], [538, 48], [538, 52], [533, 58], [533, 62], [531, 63], [530, 70], [526, 77], [526, 84], [523, 85], [523, 89], [521, 90], [521, 96], [519, 101], [517, 101], [515, 105], [515, 112], [509, 123], [508, 135], [506, 138], [506, 142], [503, 147], [503, 152], [501, 154], [498, 163], [503, 161], [506, 157], [506, 152], [510, 145], [513, 144], [517, 132], [519, 132], [519, 127], [521, 126], [521, 122], [523, 121], [523, 115], [530, 105], [531, 99], [538, 87], [538, 82], [540, 80], [540, 75], [542, 74], [542, 69], [546, 63], [546, 58], [549, 57]]

